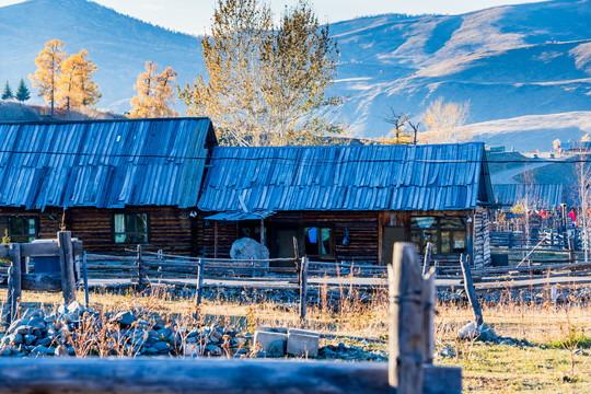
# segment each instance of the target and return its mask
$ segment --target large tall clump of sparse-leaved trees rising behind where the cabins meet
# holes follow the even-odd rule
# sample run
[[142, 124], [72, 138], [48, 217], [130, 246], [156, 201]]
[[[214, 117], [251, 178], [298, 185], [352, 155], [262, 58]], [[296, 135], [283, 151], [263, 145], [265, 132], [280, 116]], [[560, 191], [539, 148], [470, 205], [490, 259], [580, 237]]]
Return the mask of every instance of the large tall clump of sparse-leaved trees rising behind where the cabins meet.
[[278, 27], [262, 0], [218, 0], [211, 35], [201, 40], [207, 68], [179, 92], [190, 115], [213, 119], [232, 144], [316, 143], [331, 125], [325, 95], [336, 76], [338, 50], [300, 0]]

